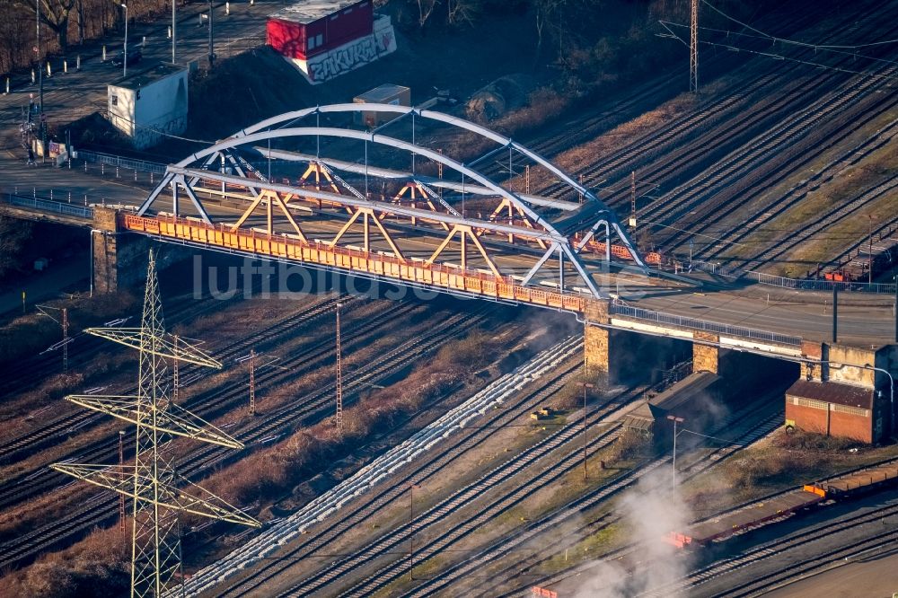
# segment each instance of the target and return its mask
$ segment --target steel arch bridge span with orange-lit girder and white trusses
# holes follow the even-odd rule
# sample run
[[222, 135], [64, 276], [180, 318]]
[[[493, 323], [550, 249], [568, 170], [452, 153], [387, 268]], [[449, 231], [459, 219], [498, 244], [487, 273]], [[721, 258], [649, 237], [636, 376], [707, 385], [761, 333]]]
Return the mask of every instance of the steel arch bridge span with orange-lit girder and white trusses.
[[[365, 119], [385, 122], [353, 125]], [[534, 195], [532, 177], [562, 191]], [[647, 274], [616, 215], [567, 172], [471, 121], [388, 104], [262, 120], [168, 166], [120, 219], [163, 241], [577, 311], [607, 296], [612, 260]]]

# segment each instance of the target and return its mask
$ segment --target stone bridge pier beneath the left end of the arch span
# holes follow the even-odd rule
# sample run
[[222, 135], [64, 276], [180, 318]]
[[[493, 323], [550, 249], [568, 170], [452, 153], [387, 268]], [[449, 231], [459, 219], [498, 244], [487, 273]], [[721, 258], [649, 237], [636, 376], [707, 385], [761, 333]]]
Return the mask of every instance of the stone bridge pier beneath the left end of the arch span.
[[91, 236], [94, 293], [115, 293], [140, 282], [146, 268], [135, 268], [135, 264], [146, 259], [148, 239], [120, 233], [116, 210], [109, 207], [93, 208]]

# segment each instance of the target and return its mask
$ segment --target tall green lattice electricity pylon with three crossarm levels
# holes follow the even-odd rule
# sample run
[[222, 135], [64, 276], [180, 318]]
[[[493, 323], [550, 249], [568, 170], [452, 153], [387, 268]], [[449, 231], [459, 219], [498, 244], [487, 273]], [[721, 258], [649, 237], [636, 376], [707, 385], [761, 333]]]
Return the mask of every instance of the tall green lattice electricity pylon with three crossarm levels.
[[54, 463], [50, 467], [77, 479], [109, 488], [133, 501], [131, 596], [161, 597], [180, 585], [180, 512], [259, 527], [260, 523], [205, 488], [180, 477], [163, 454], [171, 436], [242, 448], [243, 444], [202, 418], [168, 400], [165, 359], [221, 368], [221, 364], [183, 339], [172, 342], [163, 329], [162, 301], [150, 251], [141, 327], [96, 328], [88, 333], [140, 352], [136, 397], [73, 395], [67, 400], [123, 419], [136, 426], [134, 465]]

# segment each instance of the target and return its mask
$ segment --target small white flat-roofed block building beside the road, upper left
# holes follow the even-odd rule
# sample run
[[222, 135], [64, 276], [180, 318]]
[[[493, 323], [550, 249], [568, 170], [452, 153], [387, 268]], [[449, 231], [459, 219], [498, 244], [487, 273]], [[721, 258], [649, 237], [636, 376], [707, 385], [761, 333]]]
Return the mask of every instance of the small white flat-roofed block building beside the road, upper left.
[[188, 69], [163, 64], [109, 85], [109, 119], [138, 149], [187, 128]]

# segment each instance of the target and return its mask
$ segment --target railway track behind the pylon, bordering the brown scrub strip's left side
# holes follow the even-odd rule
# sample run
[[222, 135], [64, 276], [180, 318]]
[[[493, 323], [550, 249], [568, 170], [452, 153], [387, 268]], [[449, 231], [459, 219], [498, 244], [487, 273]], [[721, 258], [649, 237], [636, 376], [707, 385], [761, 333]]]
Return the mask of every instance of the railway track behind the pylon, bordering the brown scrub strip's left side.
[[[346, 400], [351, 404], [354, 396], [370, 383], [376, 383], [389, 377], [396, 368], [408, 365], [423, 355], [442, 345], [446, 340], [457, 337], [482, 321], [486, 307], [481, 306], [478, 312], [455, 314], [448, 318], [444, 326], [430, 330], [402, 343], [400, 347], [387, 351], [378, 360], [360, 366], [346, 376], [344, 392]], [[317, 391], [313, 391], [294, 402], [281, 407], [237, 428], [229, 430], [239, 437], [248, 447], [260, 444], [261, 440], [282, 435], [286, 431], [299, 426], [308, 426], [330, 414], [330, 402], [335, 383], [330, 383]], [[242, 390], [241, 390], [242, 391]], [[249, 449], [247, 449], [249, 450]], [[233, 454], [229, 454], [233, 453]], [[217, 447], [206, 447], [191, 453], [186, 459], [177, 462], [182, 475], [201, 478], [210, 473], [216, 466], [238, 459], [243, 452], [218, 450]], [[48, 523], [23, 533], [11, 541], [0, 545], [0, 567], [14, 567], [33, 558], [42, 551], [58, 546], [62, 541], [92, 529], [93, 526], [109, 521], [117, 516], [114, 505], [116, 497], [101, 493], [92, 497], [88, 503], [77, 506], [69, 514], [57, 521]]]

